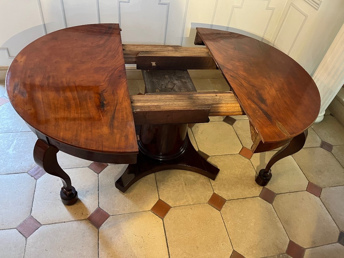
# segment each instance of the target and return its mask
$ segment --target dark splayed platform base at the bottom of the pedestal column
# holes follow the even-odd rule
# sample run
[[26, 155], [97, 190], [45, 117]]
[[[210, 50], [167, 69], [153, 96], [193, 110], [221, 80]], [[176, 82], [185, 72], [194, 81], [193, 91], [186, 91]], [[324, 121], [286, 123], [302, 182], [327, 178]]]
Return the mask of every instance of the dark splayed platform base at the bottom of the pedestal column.
[[141, 151], [137, 155], [137, 163], [129, 164], [126, 171], [116, 181], [115, 186], [121, 192], [146, 175], [169, 169], [180, 169], [196, 172], [215, 180], [219, 169], [207, 162], [192, 146], [189, 136], [186, 136], [185, 151], [172, 160], [159, 161], [144, 155]]

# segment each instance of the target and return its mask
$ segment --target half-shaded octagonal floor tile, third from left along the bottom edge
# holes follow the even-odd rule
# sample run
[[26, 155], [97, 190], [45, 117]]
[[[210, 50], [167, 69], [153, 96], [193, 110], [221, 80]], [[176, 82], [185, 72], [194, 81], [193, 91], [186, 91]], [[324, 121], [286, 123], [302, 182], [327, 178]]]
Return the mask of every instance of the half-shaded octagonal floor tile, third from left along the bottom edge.
[[151, 212], [110, 216], [99, 228], [99, 257], [169, 257], [161, 218]]

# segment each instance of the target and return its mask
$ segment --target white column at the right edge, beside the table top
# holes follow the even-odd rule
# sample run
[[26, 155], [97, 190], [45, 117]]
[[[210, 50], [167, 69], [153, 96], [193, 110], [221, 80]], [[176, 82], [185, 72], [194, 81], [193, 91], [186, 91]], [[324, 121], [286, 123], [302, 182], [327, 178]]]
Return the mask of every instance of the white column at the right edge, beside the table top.
[[319, 123], [324, 118], [326, 108], [344, 84], [344, 25], [316, 69], [313, 80], [321, 97], [320, 112], [315, 120]]

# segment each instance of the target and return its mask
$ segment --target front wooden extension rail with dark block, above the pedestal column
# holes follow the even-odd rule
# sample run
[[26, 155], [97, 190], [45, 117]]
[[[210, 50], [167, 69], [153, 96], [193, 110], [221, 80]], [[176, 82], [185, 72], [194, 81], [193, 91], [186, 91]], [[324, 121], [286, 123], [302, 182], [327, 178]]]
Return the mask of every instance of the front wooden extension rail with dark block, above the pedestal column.
[[209, 116], [244, 115], [232, 92], [131, 95], [135, 125], [207, 122]]

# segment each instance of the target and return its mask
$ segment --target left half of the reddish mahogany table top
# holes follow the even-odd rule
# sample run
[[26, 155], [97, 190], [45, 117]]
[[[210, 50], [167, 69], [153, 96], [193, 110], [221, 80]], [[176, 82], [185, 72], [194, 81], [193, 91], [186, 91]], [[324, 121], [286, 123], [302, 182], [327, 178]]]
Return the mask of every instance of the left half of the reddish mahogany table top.
[[52, 141], [74, 152], [136, 161], [118, 24], [75, 26], [40, 37], [14, 58], [6, 88], [18, 114]]

